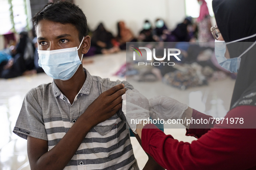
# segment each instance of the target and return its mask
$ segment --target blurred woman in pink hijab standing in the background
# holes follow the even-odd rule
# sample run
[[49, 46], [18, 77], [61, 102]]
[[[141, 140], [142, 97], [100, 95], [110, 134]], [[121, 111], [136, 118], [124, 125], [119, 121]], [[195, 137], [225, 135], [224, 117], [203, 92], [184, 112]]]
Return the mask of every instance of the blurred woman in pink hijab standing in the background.
[[199, 42], [210, 42], [214, 41], [211, 35], [211, 16], [205, 0], [198, 0], [200, 4], [200, 14], [197, 19], [198, 22], [198, 41]]

